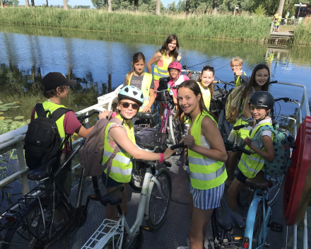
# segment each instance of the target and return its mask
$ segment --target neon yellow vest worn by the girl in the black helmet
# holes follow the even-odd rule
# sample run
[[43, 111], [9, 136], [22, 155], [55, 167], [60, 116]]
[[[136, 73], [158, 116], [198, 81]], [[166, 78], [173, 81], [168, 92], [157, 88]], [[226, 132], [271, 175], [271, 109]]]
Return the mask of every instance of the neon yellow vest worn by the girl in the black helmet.
[[[252, 139], [258, 129], [264, 125], [271, 126], [269, 122], [258, 125], [256, 129], [252, 130], [250, 138]], [[249, 146], [246, 146], [245, 149], [247, 149], [247, 151], [251, 151]], [[266, 151], [266, 148], [262, 148], [262, 150]], [[259, 154], [257, 153], [251, 154], [250, 156], [243, 153], [237, 166], [240, 168], [243, 175], [245, 175], [247, 178], [254, 178], [254, 176], [257, 175], [257, 173], [262, 169], [262, 167], [264, 167], [264, 158], [262, 158], [262, 156], [259, 156]]]

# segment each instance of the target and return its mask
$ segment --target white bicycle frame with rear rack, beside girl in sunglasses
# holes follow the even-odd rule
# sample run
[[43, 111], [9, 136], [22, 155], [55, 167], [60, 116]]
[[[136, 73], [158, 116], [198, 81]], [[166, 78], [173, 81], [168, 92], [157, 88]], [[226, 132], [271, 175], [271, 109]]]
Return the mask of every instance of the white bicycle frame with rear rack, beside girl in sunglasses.
[[[146, 168], [146, 174], [145, 178], [143, 178], [143, 187], [141, 188], [141, 197], [139, 199], [139, 208], [137, 210], [136, 214], [136, 220], [129, 228], [129, 225], [127, 224], [127, 220], [124, 216], [124, 214], [120, 215], [118, 221], [112, 221], [110, 219], [105, 219], [102, 221], [102, 224], [98, 227], [98, 229], [93, 233], [93, 235], [88, 239], [88, 241], [83, 245], [83, 249], [87, 248], [93, 248], [93, 249], [102, 249], [104, 245], [106, 245], [108, 242], [110, 242], [111, 239], [114, 239], [115, 236], [119, 236], [118, 241], [121, 241], [119, 245], [117, 246], [118, 249], [122, 248], [122, 241], [124, 237], [124, 232], [127, 233], [128, 241], [131, 241], [132, 238], [136, 234], [140, 232], [140, 226], [143, 224], [143, 218], [148, 219], [149, 218], [149, 202], [147, 202], [148, 199], [151, 197], [151, 192], [153, 190], [154, 185], [158, 187], [160, 197], [163, 199], [165, 198], [160, 183], [155, 178], [155, 176], [151, 173], [151, 168]], [[106, 228], [111, 228], [108, 233], [105, 233]], [[99, 241], [95, 246], [93, 246], [94, 241]], [[114, 243], [112, 243], [112, 248], [115, 249]]]

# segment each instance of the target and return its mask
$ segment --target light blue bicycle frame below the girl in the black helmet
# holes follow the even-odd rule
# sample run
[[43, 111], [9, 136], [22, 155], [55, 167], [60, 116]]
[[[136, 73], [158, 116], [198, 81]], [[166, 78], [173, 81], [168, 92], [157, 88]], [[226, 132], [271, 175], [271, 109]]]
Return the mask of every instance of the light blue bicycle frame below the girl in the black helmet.
[[252, 248], [252, 236], [253, 236], [253, 228], [254, 223], [256, 219], [256, 213], [257, 208], [259, 205], [259, 202], [262, 201], [262, 227], [259, 231], [259, 247], [262, 248], [264, 246], [264, 243], [266, 242], [266, 235], [268, 231], [268, 225], [271, 221], [272, 216], [272, 209], [266, 204], [266, 194], [262, 190], [256, 190], [254, 192], [254, 198], [252, 199], [252, 202], [250, 204], [250, 209], [248, 209], [247, 212], [247, 220], [246, 220], [246, 228], [244, 232], [244, 238], [250, 239], [250, 246], [249, 248]]

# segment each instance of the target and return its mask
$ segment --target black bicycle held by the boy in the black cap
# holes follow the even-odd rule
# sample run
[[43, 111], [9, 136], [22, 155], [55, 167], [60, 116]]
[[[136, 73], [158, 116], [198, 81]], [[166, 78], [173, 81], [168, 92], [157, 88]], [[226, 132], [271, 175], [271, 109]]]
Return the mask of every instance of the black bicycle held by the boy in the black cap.
[[[100, 111], [95, 111], [90, 115], [81, 115], [78, 120], [82, 124], [83, 120], [99, 113]], [[43, 166], [30, 170], [28, 179], [43, 183], [18, 199], [0, 215], [1, 219], [6, 220], [5, 224], [0, 224], [0, 231], [6, 230], [6, 235], [2, 238], [1, 249], [50, 248], [51, 245], [66, 248], [69, 245], [71, 232], [77, 231], [86, 222], [90, 199], [101, 199], [98, 180], [93, 177], [95, 196], [88, 196], [86, 204], [82, 205], [86, 180], [84, 168], [81, 169], [76, 206], [71, 204], [56, 180], [58, 175], [68, 170], [71, 160], [84, 142], [85, 139], [82, 139], [58, 169], [51, 171], [52, 165], [56, 161], [54, 158]], [[62, 220], [55, 221], [56, 216]]]

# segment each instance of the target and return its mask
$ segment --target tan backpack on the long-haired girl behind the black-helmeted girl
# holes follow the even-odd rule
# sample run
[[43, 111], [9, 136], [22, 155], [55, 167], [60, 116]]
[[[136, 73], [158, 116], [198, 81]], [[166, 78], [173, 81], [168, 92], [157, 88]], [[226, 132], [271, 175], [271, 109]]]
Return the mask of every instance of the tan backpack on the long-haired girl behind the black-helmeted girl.
[[242, 93], [244, 92], [246, 83], [240, 84], [233, 89], [233, 91], [228, 95], [227, 101], [225, 103], [225, 120], [227, 122], [235, 124], [239, 117], [240, 108], [242, 105]]

